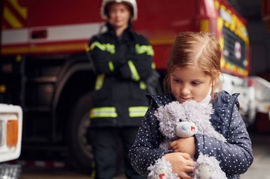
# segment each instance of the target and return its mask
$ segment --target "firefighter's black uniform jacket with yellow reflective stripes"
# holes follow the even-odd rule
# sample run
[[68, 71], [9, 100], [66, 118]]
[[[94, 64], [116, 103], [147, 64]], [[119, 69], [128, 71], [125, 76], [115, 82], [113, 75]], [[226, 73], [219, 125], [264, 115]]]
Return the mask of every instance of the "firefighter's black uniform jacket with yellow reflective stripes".
[[146, 80], [153, 72], [148, 40], [131, 26], [117, 37], [107, 23], [106, 32], [91, 38], [88, 52], [97, 74], [91, 125], [139, 126], [148, 109]]

